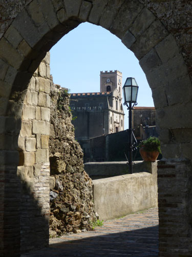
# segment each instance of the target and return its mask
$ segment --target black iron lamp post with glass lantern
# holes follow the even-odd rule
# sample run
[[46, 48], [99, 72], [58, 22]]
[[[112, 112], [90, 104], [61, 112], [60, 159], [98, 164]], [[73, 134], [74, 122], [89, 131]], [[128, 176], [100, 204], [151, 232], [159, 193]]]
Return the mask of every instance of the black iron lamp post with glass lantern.
[[129, 170], [131, 174], [133, 173], [133, 138], [132, 138], [132, 109], [134, 105], [137, 105], [137, 94], [138, 94], [138, 85], [134, 78], [126, 78], [126, 81], [123, 86], [123, 95], [124, 95], [124, 105], [127, 106], [129, 110]]

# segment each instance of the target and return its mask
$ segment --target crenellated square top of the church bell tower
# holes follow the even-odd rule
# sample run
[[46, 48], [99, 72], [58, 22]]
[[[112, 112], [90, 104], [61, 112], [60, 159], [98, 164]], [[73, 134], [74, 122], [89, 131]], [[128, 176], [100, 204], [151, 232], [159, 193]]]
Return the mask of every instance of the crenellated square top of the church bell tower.
[[100, 92], [111, 92], [117, 89], [122, 95], [122, 73], [115, 71], [100, 71]]

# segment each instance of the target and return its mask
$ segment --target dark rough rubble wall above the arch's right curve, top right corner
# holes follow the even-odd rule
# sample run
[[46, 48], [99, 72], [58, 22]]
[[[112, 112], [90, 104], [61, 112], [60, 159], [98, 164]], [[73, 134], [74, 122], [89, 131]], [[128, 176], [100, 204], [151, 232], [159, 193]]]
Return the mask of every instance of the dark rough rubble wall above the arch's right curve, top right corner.
[[[188, 66], [189, 75], [192, 75], [192, 35], [191, 35], [191, 11], [192, 3], [189, 0], [139, 0], [163, 23], [174, 36], [182, 56]], [[173, 49], [164, 45], [164, 57]]]

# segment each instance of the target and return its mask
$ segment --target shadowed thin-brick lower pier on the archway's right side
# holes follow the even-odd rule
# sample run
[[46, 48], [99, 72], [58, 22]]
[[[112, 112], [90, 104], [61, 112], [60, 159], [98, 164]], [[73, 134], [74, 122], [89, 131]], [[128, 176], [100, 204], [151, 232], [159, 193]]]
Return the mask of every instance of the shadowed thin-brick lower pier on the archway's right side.
[[158, 161], [159, 256], [191, 256], [191, 194], [190, 161]]

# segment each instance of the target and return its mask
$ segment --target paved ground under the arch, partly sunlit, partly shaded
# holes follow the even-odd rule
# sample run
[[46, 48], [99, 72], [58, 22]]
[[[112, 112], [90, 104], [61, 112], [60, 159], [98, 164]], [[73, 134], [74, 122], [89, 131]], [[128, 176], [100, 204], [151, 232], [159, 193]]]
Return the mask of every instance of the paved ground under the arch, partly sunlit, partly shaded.
[[50, 247], [22, 257], [158, 256], [158, 208], [104, 222], [94, 231], [50, 240]]

